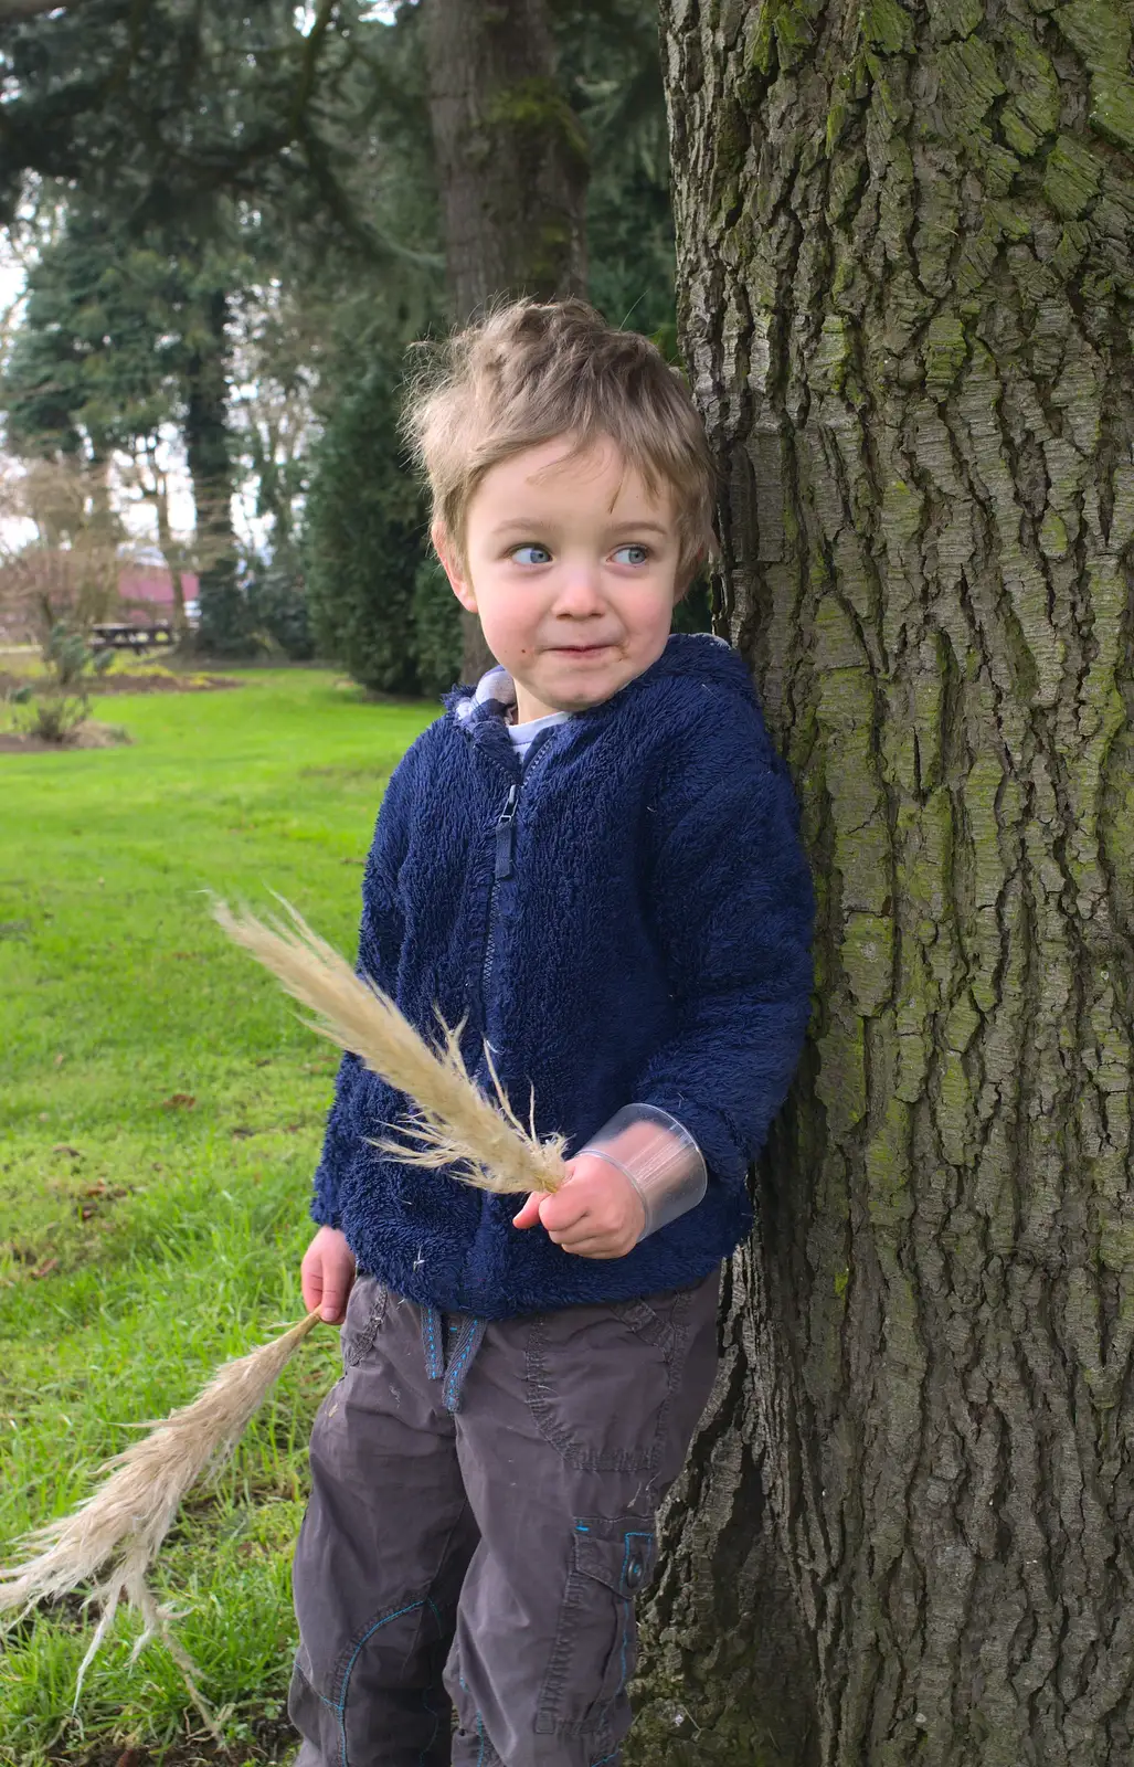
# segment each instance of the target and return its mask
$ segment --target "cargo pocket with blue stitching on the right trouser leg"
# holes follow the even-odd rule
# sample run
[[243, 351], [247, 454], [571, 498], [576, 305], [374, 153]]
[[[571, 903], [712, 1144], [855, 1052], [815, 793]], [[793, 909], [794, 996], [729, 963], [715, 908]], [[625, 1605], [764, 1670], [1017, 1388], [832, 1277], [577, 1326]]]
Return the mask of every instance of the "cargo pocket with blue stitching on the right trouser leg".
[[539, 1695], [539, 1735], [601, 1732], [634, 1673], [634, 1597], [654, 1576], [654, 1521], [585, 1516], [574, 1525], [555, 1643]]

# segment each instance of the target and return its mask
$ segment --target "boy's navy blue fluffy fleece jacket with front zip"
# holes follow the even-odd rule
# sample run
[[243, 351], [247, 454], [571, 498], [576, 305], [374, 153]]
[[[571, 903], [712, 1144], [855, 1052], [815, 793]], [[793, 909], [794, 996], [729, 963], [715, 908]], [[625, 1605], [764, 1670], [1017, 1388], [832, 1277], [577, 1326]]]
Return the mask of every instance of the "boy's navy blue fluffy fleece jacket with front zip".
[[740, 657], [675, 634], [604, 705], [516, 758], [454, 689], [390, 777], [362, 885], [359, 968], [429, 1034], [456, 1025], [569, 1154], [629, 1103], [698, 1140], [705, 1200], [624, 1258], [518, 1230], [489, 1196], [369, 1143], [404, 1097], [348, 1055], [313, 1214], [367, 1270], [445, 1311], [507, 1318], [696, 1283], [751, 1226], [745, 1168], [798, 1060], [813, 896], [797, 809]]

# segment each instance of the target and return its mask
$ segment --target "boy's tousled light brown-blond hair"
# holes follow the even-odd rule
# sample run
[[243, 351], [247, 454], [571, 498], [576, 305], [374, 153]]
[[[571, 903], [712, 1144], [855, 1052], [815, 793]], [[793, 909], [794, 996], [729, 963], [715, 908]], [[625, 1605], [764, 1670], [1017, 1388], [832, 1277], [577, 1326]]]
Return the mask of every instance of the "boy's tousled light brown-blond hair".
[[468, 505], [493, 466], [555, 436], [578, 452], [608, 438], [650, 497], [671, 493], [687, 587], [715, 546], [715, 472], [685, 380], [657, 345], [572, 297], [509, 302], [422, 357], [403, 431], [461, 558]]

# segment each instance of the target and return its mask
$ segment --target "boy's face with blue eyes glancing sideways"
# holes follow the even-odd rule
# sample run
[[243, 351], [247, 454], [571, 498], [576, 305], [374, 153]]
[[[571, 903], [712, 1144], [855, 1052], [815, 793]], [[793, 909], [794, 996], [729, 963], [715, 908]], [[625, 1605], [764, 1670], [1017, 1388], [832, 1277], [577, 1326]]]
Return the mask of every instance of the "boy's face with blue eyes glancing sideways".
[[463, 608], [516, 682], [516, 719], [601, 705], [655, 663], [669, 636], [680, 542], [661, 502], [601, 438], [571, 436], [500, 461], [468, 505], [465, 558], [433, 544]]

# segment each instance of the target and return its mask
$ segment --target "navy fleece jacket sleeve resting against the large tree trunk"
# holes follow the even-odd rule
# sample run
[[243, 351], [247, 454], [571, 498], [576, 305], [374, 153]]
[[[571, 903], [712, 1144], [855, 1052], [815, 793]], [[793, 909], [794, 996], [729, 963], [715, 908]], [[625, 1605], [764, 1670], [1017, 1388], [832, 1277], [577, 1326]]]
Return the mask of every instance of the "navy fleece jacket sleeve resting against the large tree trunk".
[[654, 915], [678, 1027], [634, 1092], [677, 1117], [726, 1184], [763, 1147], [811, 1016], [811, 873], [791, 783], [754, 721], [754, 742], [714, 753], [710, 739], [671, 793]]

